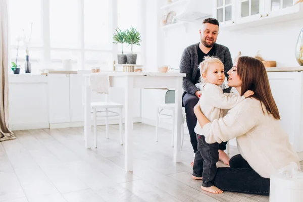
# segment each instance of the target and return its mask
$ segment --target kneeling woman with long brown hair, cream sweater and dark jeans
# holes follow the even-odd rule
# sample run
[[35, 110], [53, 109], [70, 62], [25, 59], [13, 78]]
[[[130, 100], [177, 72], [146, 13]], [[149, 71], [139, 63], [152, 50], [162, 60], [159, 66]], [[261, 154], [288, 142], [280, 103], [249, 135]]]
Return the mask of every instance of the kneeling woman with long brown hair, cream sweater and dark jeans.
[[[213, 122], [201, 113], [199, 103], [194, 107], [201, 128], [206, 130], [207, 143], [237, 139], [240, 154], [230, 159], [230, 168], [218, 168], [214, 185], [226, 191], [269, 195], [270, 175], [290, 162], [299, 166], [298, 156], [280, 126], [279, 111], [263, 63], [240, 57], [228, 75], [228, 86], [235, 87], [240, 95], [247, 90], [255, 94]], [[203, 158], [198, 151], [193, 179], [201, 179], [202, 173]]]

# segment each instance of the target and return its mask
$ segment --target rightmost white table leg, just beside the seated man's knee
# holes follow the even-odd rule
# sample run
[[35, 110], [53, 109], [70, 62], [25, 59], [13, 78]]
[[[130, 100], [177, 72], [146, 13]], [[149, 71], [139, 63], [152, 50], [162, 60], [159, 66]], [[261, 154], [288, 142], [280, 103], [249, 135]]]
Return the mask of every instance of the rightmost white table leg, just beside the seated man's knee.
[[175, 105], [174, 162], [177, 163], [181, 161], [182, 77], [176, 78]]

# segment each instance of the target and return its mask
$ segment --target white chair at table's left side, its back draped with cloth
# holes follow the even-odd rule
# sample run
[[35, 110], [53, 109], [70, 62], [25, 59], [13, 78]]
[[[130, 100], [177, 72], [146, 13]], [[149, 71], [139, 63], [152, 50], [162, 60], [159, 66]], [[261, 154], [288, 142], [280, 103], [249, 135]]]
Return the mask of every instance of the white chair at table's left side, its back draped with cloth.
[[[82, 85], [82, 104], [84, 105], [84, 79], [83, 74], [90, 74], [90, 70], [78, 70], [80, 77], [80, 82]], [[120, 116], [119, 119], [119, 133], [120, 133], [120, 143], [123, 145], [123, 133], [122, 133], [122, 109], [123, 105], [119, 103], [114, 103], [109, 100], [108, 94], [105, 94], [105, 102], [91, 102], [90, 107], [92, 109], [93, 115], [93, 134], [94, 134], [94, 147], [97, 148], [97, 118], [105, 117], [106, 125], [106, 138], [109, 139], [109, 117]], [[119, 113], [110, 111], [109, 109], [118, 108]]]

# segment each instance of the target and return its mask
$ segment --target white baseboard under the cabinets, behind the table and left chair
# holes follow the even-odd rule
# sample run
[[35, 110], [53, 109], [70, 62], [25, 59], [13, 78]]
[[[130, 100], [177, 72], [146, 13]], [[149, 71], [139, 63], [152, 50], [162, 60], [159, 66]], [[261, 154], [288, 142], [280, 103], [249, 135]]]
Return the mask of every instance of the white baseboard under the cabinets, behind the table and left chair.
[[[141, 123], [141, 118], [136, 117], [133, 119], [134, 123]], [[124, 123], [124, 119], [122, 120], [122, 123]], [[109, 124], [119, 124], [119, 119], [109, 119]], [[55, 128], [73, 128], [73, 127], [82, 127], [84, 125], [83, 121], [79, 122], [67, 122], [67, 123], [50, 123], [49, 129], [55, 129]], [[91, 125], [93, 125], [93, 122], [91, 121]], [[97, 120], [97, 125], [105, 125], [105, 120]]]

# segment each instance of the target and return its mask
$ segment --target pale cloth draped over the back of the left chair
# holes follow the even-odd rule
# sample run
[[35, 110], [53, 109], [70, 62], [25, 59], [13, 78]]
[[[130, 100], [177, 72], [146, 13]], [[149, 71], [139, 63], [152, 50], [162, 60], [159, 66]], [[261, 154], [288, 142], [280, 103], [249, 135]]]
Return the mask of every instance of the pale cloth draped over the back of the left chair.
[[108, 73], [92, 73], [90, 86], [92, 91], [109, 94], [110, 79]]

